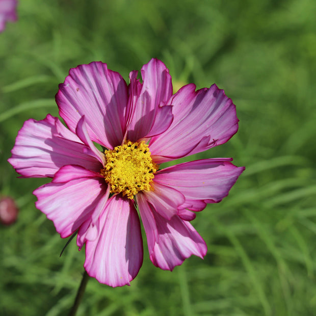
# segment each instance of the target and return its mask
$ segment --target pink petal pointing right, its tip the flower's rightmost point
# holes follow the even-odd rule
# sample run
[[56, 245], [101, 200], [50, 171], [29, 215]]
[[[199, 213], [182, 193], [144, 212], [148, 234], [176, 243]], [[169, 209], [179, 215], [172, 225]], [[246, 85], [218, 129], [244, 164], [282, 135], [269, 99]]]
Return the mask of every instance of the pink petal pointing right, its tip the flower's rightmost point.
[[218, 203], [228, 195], [245, 170], [230, 158], [203, 159], [159, 170], [155, 182], [176, 188], [186, 197], [185, 207], [202, 210], [206, 203]]

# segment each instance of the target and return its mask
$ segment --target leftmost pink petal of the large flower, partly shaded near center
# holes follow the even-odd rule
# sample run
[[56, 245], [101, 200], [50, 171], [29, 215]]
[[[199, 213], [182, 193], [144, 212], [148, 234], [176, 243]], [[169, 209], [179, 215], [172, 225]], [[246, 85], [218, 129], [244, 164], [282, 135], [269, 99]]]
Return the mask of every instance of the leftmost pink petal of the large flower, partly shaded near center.
[[57, 117], [25, 121], [19, 130], [9, 163], [24, 177], [53, 177], [64, 165], [99, 171], [95, 154]]

